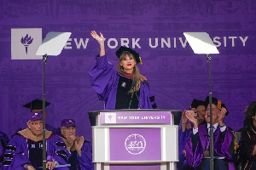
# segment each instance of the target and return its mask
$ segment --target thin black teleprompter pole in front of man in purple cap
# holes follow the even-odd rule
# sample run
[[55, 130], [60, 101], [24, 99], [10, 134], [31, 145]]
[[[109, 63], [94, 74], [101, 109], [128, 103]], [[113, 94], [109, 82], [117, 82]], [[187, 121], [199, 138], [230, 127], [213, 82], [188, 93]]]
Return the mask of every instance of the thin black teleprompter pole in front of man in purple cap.
[[46, 170], [46, 139], [45, 139], [45, 64], [48, 56], [43, 56], [43, 170]]

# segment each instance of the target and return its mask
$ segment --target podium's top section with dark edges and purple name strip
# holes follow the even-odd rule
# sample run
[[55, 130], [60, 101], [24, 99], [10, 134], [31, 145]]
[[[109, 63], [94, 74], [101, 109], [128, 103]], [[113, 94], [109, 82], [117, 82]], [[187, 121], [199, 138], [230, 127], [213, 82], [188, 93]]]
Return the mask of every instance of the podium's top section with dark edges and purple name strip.
[[102, 110], [89, 111], [90, 125], [172, 124], [178, 125], [182, 111], [177, 110]]

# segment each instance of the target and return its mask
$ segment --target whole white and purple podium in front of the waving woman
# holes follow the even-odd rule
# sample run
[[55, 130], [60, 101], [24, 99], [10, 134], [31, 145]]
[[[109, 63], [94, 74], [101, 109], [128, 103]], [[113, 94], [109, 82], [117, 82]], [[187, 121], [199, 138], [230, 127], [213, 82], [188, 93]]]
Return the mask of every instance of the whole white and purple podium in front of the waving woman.
[[176, 170], [182, 111], [89, 111], [95, 170]]

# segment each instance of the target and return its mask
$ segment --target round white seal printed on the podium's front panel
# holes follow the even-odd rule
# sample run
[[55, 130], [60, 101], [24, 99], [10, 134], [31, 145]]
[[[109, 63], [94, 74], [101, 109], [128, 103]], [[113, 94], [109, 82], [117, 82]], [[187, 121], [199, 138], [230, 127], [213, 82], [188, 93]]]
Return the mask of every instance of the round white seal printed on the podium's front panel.
[[125, 139], [125, 149], [131, 155], [139, 155], [143, 153], [146, 148], [146, 140], [143, 135], [133, 133]]

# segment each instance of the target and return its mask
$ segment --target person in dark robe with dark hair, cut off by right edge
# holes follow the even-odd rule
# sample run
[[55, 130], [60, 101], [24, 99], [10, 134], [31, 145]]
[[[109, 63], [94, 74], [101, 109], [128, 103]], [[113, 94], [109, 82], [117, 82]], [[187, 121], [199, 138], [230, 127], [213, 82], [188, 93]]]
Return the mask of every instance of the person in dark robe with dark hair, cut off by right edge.
[[256, 169], [256, 101], [245, 111], [246, 118], [241, 133], [240, 159], [241, 169]]

